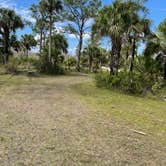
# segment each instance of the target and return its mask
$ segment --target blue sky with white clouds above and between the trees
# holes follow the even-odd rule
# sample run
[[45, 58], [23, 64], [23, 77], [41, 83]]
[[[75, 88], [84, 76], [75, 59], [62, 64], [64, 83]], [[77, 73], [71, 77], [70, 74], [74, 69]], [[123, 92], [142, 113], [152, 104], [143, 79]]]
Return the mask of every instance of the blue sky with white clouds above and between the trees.
[[[113, 0], [102, 0], [103, 5], [111, 4]], [[0, 0], [0, 7], [11, 8], [16, 11], [22, 18], [34, 22], [30, 16], [29, 8], [31, 4], [38, 3], [38, 0]], [[166, 18], [166, 0], [148, 0], [146, 6], [149, 9], [148, 18], [152, 20], [152, 29], [155, 30], [161, 21]], [[88, 23], [90, 24], [90, 22]], [[62, 27], [62, 23], [57, 23], [57, 28]], [[32, 33], [30, 27], [25, 27], [23, 30], [18, 30], [17, 35], [20, 37], [22, 34]], [[78, 41], [74, 35], [67, 34], [66, 38], [69, 43], [69, 53], [74, 54]], [[89, 34], [84, 36], [84, 45], [89, 38]], [[104, 47], [109, 47], [109, 41], [103, 43]]]

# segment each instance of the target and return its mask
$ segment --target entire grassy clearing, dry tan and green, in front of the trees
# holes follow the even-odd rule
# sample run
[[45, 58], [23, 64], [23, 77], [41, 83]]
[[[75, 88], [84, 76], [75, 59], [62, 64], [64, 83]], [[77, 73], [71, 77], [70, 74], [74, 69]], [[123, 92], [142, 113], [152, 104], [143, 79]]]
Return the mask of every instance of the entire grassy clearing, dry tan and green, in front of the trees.
[[165, 166], [165, 106], [86, 75], [0, 76], [0, 166]]

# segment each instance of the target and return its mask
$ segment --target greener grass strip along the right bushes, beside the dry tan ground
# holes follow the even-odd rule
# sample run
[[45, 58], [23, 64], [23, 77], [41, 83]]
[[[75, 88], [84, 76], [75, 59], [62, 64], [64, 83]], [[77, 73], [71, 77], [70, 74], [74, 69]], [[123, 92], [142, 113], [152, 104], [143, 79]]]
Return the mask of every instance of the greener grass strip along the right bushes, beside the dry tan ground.
[[99, 89], [94, 83], [79, 84], [74, 89], [100, 113], [166, 144], [166, 102]]

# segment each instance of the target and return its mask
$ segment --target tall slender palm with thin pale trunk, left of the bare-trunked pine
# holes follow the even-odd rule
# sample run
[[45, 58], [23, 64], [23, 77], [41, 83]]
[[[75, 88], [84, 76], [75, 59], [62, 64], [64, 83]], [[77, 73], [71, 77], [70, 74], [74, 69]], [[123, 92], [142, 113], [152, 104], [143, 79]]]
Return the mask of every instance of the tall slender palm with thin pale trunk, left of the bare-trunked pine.
[[52, 29], [53, 23], [57, 20], [58, 14], [62, 11], [62, 1], [61, 0], [41, 0], [43, 9], [48, 13], [49, 21], [49, 55], [48, 60], [51, 61], [51, 48], [52, 48]]

